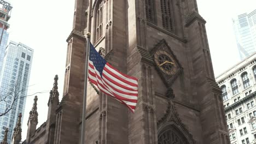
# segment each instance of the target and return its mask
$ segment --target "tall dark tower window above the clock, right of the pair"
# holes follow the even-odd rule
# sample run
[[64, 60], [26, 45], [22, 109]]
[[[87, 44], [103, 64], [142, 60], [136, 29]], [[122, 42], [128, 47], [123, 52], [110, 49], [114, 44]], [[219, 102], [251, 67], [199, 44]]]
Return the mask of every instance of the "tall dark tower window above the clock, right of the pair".
[[170, 32], [174, 32], [172, 6], [171, 0], [161, 0], [162, 26]]

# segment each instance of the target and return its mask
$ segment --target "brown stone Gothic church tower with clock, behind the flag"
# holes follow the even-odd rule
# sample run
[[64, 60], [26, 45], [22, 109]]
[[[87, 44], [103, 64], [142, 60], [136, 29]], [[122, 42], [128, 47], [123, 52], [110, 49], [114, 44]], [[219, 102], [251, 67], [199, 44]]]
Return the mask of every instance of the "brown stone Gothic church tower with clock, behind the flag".
[[139, 94], [131, 113], [89, 84], [86, 143], [230, 143], [205, 23], [196, 0], [76, 0], [63, 98], [51, 93], [48, 119], [40, 130], [31, 123], [27, 142], [79, 143], [90, 32], [110, 64], [138, 78]]

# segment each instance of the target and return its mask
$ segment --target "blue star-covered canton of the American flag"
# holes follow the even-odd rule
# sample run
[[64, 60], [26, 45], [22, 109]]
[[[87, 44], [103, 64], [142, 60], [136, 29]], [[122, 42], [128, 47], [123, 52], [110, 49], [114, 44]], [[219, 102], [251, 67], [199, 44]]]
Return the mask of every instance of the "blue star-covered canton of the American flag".
[[107, 62], [105, 61], [105, 59], [103, 57], [101, 57], [100, 53], [98, 53], [95, 50], [95, 47], [91, 43], [90, 43], [89, 59], [90, 59], [90, 61], [92, 61], [94, 63], [94, 67], [98, 70], [98, 72], [100, 73], [100, 75], [102, 77], [102, 71]]

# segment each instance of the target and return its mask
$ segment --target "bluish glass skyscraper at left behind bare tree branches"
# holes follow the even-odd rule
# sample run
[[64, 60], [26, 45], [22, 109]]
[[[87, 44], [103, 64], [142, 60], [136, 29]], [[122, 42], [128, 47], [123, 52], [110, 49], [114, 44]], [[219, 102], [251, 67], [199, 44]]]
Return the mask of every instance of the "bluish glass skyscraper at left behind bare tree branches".
[[[0, 102], [0, 113], [13, 104], [12, 109], [0, 117], [0, 140], [4, 136], [5, 128], [9, 128], [8, 143], [16, 125], [19, 113], [24, 113], [28, 82], [30, 80], [33, 49], [10, 41], [5, 50], [2, 73], [0, 75], [0, 94], [6, 97], [7, 104]], [[16, 99], [18, 98], [18, 99]], [[16, 100], [14, 100], [16, 99]]]

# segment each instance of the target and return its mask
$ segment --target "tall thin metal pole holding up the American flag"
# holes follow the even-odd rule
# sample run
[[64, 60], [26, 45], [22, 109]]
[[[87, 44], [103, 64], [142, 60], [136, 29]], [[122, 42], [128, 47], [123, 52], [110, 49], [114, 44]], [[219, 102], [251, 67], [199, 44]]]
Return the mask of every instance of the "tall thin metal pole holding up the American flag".
[[87, 35], [87, 46], [85, 46], [86, 54], [85, 54], [85, 70], [84, 70], [84, 99], [83, 99], [83, 113], [82, 113], [82, 127], [81, 127], [80, 144], [84, 143], [84, 135], [85, 135], [88, 59], [89, 59], [89, 53], [90, 53], [90, 35], [91, 35], [91, 33], [88, 32], [86, 35]]

